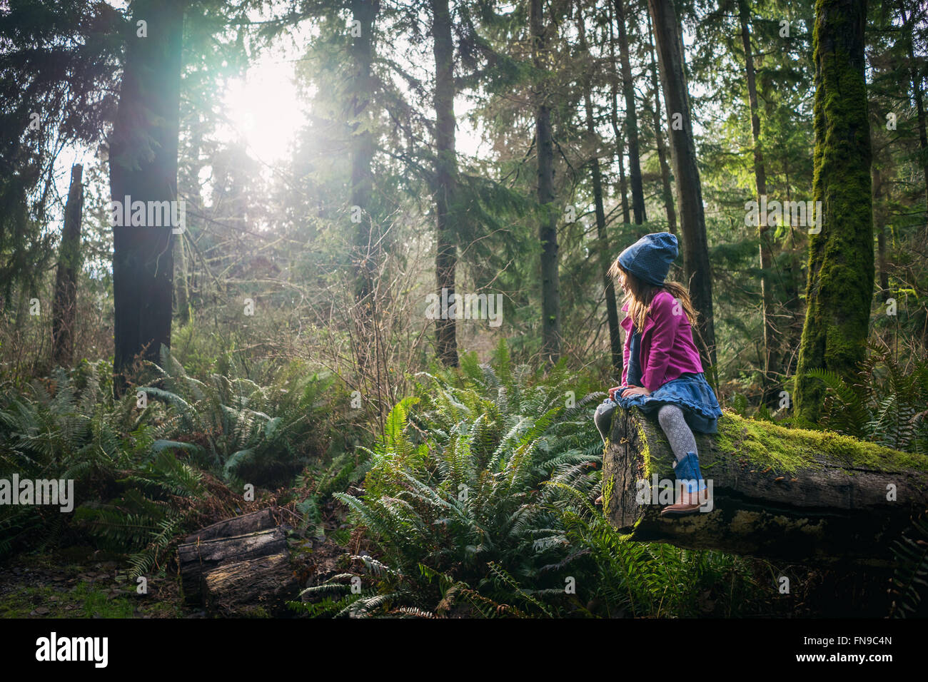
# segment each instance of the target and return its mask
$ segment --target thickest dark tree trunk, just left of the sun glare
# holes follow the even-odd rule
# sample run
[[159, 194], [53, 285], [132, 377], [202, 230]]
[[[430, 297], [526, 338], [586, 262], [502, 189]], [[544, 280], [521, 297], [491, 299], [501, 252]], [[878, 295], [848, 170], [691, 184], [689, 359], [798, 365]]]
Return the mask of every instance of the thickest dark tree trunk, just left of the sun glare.
[[[184, 0], [135, 0], [119, 107], [110, 138], [110, 194], [148, 209], [177, 199]], [[139, 37], [136, 20], [146, 21]], [[128, 199], [127, 199], [128, 198]], [[155, 204], [154, 202], [159, 202]], [[169, 213], [173, 211], [169, 209]], [[159, 361], [171, 345], [173, 220], [113, 227], [114, 390], [122, 393], [137, 355]], [[179, 211], [178, 211], [179, 213]], [[163, 218], [163, 212], [161, 212]]]

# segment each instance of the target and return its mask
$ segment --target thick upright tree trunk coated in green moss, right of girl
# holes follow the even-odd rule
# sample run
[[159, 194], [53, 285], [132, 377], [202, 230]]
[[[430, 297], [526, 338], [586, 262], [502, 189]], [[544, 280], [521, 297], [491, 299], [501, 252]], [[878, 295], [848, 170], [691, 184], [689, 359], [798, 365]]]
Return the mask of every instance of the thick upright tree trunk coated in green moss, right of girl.
[[[816, 367], [850, 376], [864, 359], [873, 294], [870, 122], [864, 81], [862, 0], [818, 0], [813, 199], [821, 231], [809, 236], [806, 324], [796, 367], [795, 409], [817, 420], [824, 386]], [[817, 204], [818, 206], [818, 204]]]

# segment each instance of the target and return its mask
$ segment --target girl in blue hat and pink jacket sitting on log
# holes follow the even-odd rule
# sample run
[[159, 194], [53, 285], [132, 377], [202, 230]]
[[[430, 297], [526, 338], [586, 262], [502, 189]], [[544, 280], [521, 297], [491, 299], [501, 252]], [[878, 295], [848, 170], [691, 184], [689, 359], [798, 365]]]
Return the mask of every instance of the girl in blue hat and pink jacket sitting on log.
[[[677, 502], [661, 511], [692, 514], [707, 501], [693, 431], [715, 433], [722, 410], [702, 374], [693, 343], [696, 312], [690, 294], [665, 282], [677, 258], [677, 238], [668, 232], [645, 235], [622, 251], [609, 270], [625, 292], [625, 367], [622, 385], [596, 410], [594, 421], [605, 442], [616, 405], [657, 415], [677, 457]], [[599, 502], [599, 500], [597, 500]]]

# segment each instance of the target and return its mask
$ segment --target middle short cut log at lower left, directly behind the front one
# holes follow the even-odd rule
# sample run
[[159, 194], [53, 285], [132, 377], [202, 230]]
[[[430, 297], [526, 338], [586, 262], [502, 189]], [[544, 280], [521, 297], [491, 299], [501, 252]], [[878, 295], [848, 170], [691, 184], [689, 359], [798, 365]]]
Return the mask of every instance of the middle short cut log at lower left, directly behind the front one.
[[202, 601], [203, 577], [223, 564], [287, 551], [287, 538], [279, 528], [185, 543], [177, 547], [184, 598], [187, 603]]

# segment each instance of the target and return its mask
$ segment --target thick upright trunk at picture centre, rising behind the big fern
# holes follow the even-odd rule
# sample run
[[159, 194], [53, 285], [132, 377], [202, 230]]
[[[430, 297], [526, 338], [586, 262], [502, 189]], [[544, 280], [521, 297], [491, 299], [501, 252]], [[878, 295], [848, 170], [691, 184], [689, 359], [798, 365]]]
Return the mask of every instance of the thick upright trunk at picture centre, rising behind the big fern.
[[[432, 38], [435, 57], [435, 283], [439, 300], [451, 302], [455, 293], [455, 268], [458, 264], [456, 223], [459, 215], [456, 197], [455, 45], [451, 38], [448, 0], [432, 0]], [[439, 315], [435, 320], [437, 353], [445, 367], [458, 367], [455, 324], [454, 315], [446, 315], [446, 318]]]

